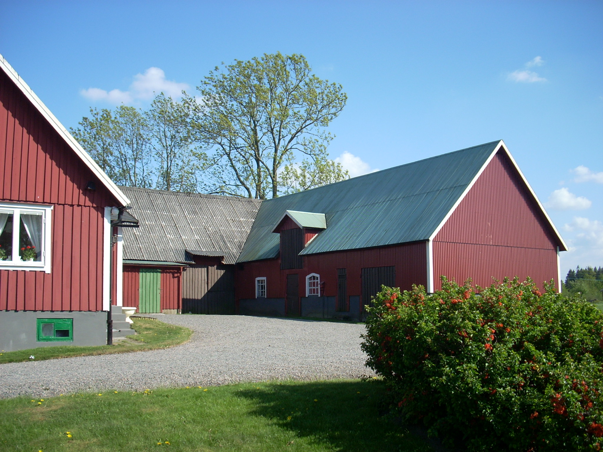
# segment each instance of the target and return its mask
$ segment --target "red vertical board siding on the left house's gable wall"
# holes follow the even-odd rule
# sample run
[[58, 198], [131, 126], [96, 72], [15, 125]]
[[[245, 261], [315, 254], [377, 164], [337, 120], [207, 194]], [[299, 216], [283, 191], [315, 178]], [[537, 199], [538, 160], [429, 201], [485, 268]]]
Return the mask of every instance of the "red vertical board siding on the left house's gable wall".
[[51, 273], [0, 270], [0, 310], [102, 310], [104, 207], [116, 201], [2, 71], [0, 200], [54, 205]]

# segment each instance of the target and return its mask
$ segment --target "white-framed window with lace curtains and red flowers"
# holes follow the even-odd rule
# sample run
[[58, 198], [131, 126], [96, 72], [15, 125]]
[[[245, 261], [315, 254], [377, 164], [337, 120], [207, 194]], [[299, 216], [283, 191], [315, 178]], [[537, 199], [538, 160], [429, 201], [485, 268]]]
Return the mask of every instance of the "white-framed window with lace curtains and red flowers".
[[51, 210], [0, 202], [0, 269], [50, 273]]

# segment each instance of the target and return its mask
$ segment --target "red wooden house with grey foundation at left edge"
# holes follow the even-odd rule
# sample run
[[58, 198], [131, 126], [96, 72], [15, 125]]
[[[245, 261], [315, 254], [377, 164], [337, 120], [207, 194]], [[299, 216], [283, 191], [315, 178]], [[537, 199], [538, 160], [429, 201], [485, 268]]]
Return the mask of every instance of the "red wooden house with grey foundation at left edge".
[[0, 68], [0, 348], [106, 344], [111, 221], [128, 199], [1, 55]]

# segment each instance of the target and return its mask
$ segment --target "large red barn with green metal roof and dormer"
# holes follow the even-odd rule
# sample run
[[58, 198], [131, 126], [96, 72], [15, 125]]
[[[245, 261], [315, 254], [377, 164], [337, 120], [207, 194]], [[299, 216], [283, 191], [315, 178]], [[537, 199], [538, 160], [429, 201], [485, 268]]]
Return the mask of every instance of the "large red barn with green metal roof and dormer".
[[239, 313], [361, 318], [381, 284], [555, 280], [566, 246], [504, 142], [262, 202], [238, 258]]

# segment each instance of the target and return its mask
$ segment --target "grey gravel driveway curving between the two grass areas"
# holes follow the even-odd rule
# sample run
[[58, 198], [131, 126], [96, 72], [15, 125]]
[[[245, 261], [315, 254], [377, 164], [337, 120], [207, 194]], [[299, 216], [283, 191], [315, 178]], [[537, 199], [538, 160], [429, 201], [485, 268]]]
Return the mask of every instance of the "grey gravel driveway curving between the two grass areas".
[[191, 341], [166, 350], [2, 364], [0, 398], [373, 375], [360, 350], [364, 325], [250, 316], [156, 317], [194, 330]]

